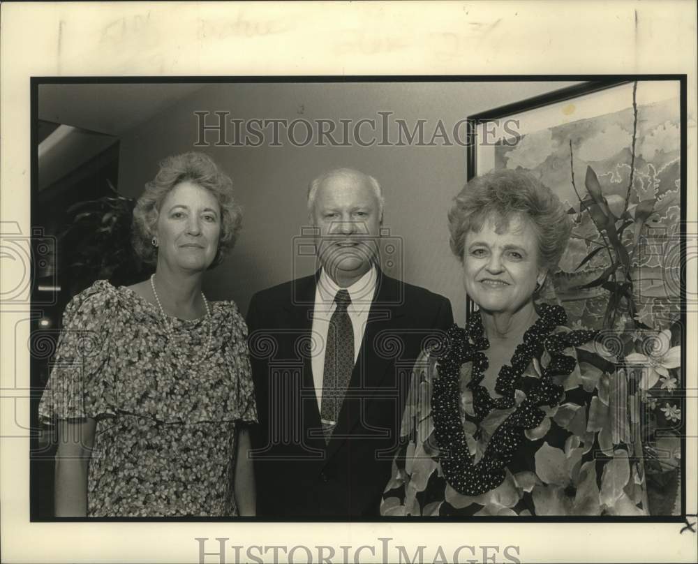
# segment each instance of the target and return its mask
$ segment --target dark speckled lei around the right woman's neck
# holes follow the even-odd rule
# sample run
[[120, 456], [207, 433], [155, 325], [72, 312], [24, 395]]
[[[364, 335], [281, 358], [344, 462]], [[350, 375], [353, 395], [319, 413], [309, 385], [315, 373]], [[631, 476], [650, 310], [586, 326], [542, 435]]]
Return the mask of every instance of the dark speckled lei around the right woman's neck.
[[[558, 325], [567, 322], [560, 306], [540, 304], [540, 318], [528, 328], [521, 344], [514, 351], [511, 364], [505, 365], [497, 376], [495, 390], [501, 397], [492, 398], [487, 388], [480, 385], [487, 370], [489, 348], [482, 318], [475, 312], [465, 329], [454, 325], [448, 330], [438, 354], [438, 378], [433, 381], [431, 413], [434, 434], [440, 450], [440, 464], [446, 480], [456, 491], [466, 496], [478, 496], [498, 487], [505, 477], [509, 463], [524, 439], [523, 431], [538, 426], [545, 414], [539, 406], [556, 406], [563, 396], [563, 387], [554, 383], [553, 376], [567, 375], [574, 370], [576, 359], [563, 354], [565, 347], [585, 343], [594, 332], [574, 331], [551, 334]], [[526, 370], [533, 357], [540, 357], [544, 348], [551, 355], [542, 376], [530, 389], [526, 399], [519, 403], [494, 431], [482, 459], [473, 463], [468, 449], [459, 410], [461, 366], [472, 362], [468, 387], [473, 392], [475, 419], [482, 422], [491, 410], [515, 406], [514, 383]]]

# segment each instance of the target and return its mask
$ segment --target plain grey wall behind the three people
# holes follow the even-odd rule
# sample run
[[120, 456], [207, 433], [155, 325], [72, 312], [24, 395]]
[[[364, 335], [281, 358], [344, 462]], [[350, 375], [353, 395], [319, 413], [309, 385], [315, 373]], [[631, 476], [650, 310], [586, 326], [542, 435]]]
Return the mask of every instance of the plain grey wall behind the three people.
[[[313, 272], [312, 261], [294, 258], [307, 225], [306, 187], [330, 168], [348, 166], [373, 175], [383, 187], [384, 228], [401, 246], [392, 274], [451, 299], [456, 322], [465, 318], [460, 264], [450, 253], [447, 210], [466, 181], [466, 149], [454, 142], [452, 128], [470, 114], [570, 86], [570, 82], [445, 82], [362, 84], [209, 84], [182, 98], [155, 117], [123, 133], [119, 158], [119, 191], [138, 195], [171, 154], [207, 152], [235, 183], [244, 209], [237, 246], [207, 276], [211, 299], [233, 299], [243, 313], [254, 292], [294, 276]], [[270, 129], [260, 147], [194, 147], [198, 139], [195, 111], [230, 112], [235, 119], [404, 119], [410, 129], [426, 120], [425, 137], [441, 120], [452, 146], [424, 147], [294, 147], [280, 141], [269, 146]], [[211, 114], [208, 122], [216, 121]], [[303, 140], [302, 127], [297, 138]], [[364, 138], [371, 138], [367, 126]], [[461, 140], [465, 128], [461, 128]], [[232, 133], [228, 130], [229, 140]], [[376, 138], [380, 141], [380, 131]], [[397, 128], [389, 130], [396, 140]], [[341, 139], [341, 135], [336, 135]], [[207, 133], [216, 142], [216, 133]], [[436, 140], [440, 143], [441, 140]]]

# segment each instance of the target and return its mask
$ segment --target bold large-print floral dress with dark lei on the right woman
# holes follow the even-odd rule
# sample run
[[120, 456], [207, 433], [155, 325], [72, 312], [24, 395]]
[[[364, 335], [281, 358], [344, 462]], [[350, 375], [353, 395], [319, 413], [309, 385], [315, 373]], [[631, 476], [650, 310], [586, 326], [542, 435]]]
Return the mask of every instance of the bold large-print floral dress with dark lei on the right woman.
[[382, 515], [647, 514], [637, 390], [595, 333], [541, 307], [501, 396], [480, 385], [478, 313], [417, 360]]

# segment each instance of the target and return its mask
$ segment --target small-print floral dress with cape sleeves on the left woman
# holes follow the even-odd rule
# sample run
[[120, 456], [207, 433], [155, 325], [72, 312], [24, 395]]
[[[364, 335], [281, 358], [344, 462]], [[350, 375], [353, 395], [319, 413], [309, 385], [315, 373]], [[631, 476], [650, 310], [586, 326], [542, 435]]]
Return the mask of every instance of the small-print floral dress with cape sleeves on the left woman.
[[212, 302], [211, 322], [202, 355], [206, 318], [170, 318], [173, 350], [129, 288], [97, 281], [68, 304], [39, 415], [96, 420], [89, 517], [237, 514], [236, 424], [257, 417], [247, 327], [233, 302]]

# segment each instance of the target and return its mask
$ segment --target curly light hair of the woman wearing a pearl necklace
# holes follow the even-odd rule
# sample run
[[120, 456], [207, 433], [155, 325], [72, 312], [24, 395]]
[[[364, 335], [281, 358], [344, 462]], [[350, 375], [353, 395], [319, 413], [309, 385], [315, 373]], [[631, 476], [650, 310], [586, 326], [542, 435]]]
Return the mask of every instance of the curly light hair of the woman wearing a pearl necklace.
[[223, 261], [225, 253], [235, 246], [242, 225], [242, 209], [232, 195], [232, 180], [222, 172], [213, 159], [203, 153], [184, 153], [165, 158], [156, 177], [145, 185], [133, 209], [133, 249], [149, 265], [158, 260], [158, 249], [151, 244], [160, 207], [174, 186], [189, 181], [216, 196], [221, 207], [221, 234], [218, 251], [209, 268]]

